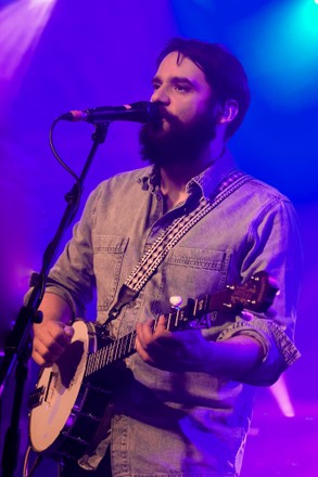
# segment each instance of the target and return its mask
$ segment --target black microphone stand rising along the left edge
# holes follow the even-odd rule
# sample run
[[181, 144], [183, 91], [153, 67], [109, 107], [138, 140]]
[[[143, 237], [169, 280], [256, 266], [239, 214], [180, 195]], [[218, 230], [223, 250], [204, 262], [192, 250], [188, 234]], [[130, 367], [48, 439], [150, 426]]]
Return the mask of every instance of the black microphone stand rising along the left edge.
[[16, 364], [16, 383], [12, 405], [11, 423], [5, 434], [2, 454], [2, 472], [3, 476], [5, 477], [14, 476], [14, 470], [17, 464], [20, 449], [18, 423], [21, 416], [21, 407], [23, 402], [24, 385], [28, 372], [27, 362], [30, 358], [31, 326], [33, 323], [40, 323], [42, 321], [42, 313], [38, 311], [38, 308], [44, 294], [49, 270], [53, 265], [53, 258], [61, 243], [62, 235], [64, 234], [66, 228], [72, 223], [76, 215], [82, 191], [84, 180], [87, 176], [99, 144], [102, 144], [105, 141], [109, 125], [110, 123], [100, 123], [96, 127], [96, 130], [92, 134], [93, 144], [91, 146], [78, 181], [65, 195], [67, 206], [53, 240], [46, 248], [42, 259], [42, 268], [40, 273], [36, 274], [37, 278], [34, 289], [29, 296], [27, 305], [21, 308], [13, 330], [10, 333], [5, 344], [4, 358], [0, 366], [0, 399], [3, 390], [5, 389], [5, 384], [11, 375], [11, 372]]

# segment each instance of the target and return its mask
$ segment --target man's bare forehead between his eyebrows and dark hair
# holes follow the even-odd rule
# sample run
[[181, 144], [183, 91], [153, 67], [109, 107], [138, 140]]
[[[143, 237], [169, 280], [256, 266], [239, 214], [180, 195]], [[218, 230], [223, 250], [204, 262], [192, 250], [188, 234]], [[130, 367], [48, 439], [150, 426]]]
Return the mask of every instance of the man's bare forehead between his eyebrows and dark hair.
[[163, 59], [155, 76], [163, 79], [183, 77], [193, 82], [209, 87], [202, 69], [200, 69], [189, 57], [183, 56], [177, 51], [173, 51]]

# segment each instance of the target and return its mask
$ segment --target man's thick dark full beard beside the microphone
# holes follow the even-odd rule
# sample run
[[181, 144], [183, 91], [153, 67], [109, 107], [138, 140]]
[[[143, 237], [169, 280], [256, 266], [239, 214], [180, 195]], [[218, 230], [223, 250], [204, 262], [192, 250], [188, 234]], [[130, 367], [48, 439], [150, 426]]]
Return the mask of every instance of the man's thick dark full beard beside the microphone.
[[139, 133], [142, 160], [155, 166], [169, 164], [192, 164], [216, 136], [215, 102], [192, 121], [183, 124], [177, 116], [163, 112], [161, 117], [168, 124], [164, 130], [162, 118], [155, 123], [147, 123]]

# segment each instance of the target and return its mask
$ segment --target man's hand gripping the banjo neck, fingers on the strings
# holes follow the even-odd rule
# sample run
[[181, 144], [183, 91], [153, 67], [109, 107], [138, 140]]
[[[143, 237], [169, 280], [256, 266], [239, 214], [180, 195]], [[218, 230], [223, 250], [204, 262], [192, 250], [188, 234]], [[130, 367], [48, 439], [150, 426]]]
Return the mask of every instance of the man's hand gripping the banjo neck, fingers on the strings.
[[136, 350], [151, 366], [171, 372], [204, 372], [212, 358], [213, 343], [203, 338], [200, 330], [169, 332], [165, 317], [137, 324]]

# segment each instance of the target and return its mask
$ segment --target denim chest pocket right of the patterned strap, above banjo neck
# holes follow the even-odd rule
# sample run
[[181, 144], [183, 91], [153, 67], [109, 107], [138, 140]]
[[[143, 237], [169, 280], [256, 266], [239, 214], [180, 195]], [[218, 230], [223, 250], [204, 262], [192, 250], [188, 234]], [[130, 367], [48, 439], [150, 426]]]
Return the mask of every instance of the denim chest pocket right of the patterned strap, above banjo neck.
[[212, 294], [226, 286], [230, 254], [221, 250], [176, 247], [162, 271], [162, 286], [156, 300], [164, 312], [169, 310], [169, 297], [188, 298]]

